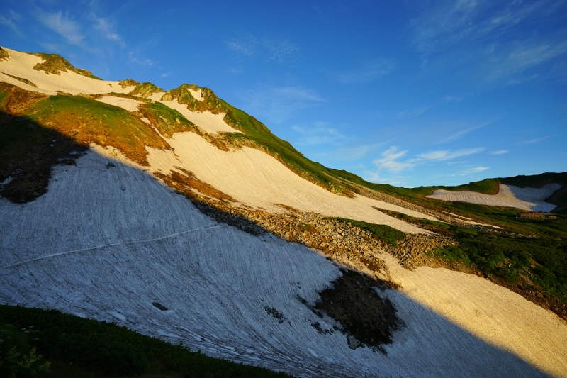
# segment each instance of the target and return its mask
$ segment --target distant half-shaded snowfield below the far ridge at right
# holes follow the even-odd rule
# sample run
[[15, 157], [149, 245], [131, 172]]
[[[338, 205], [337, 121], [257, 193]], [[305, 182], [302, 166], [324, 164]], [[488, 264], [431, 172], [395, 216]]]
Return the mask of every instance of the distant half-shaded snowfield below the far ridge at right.
[[460, 201], [469, 204], [515, 207], [526, 211], [543, 211], [548, 213], [556, 206], [544, 201], [551, 194], [561, 189], [560, 184], [547, 184], [541, 188], [519, 188], [513, 185], [500, 184], [497, 194], [483, 194], [476, 191], [448, 191], [437, 189], [427, 198], [442, 201]]

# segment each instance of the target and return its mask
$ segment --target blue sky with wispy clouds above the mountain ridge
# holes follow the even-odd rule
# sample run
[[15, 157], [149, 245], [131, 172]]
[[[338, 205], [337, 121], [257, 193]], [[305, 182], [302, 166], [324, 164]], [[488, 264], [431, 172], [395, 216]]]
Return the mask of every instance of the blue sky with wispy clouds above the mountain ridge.
[[0, 44], [210, 87], [306, 157], [417, 187], [567, 171], [566, 1], [28, 1]]

